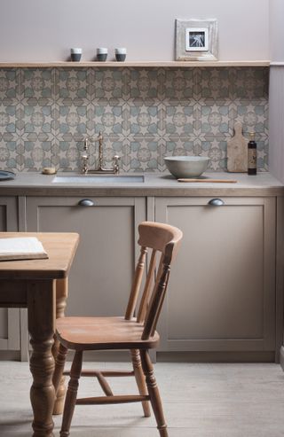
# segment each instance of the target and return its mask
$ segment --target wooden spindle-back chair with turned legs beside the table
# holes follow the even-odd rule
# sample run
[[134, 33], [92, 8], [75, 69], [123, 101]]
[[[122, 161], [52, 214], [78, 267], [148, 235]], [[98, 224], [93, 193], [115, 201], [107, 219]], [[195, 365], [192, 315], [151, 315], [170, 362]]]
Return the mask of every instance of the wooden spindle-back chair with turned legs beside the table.
[[[155, 328], [168, 285], [170, 263], [177, 253], [182, 232], [173, 226], [157, 222], [142, 222], [138, 226], [138, 232], [138, 245], [141, 246], [141, 250], [125, 316], [63, 317], [57, 320], [57, 338], [60, 346], [53, 378], [55, 390], [59, 386], [67, 349], [75, 350], [60, 437], [69, 435], [75, 404], [142, 402], [144, 415], [149, 417], [149, 401], [154, 410], [160, 435], [168, 437], [167, 425], [162, 412], [162, 402], [154, 378], [154, 369], [148, 349], [156, 347], [159, 342], [159, 334], [155, 331]], [[136, 308], [147, 249], [152, 249], [151, 260], [144, 290], [139, 299], [138, 308]], [[158, 264], [157, 269], [156, 264]], [[136, 317], [134, 317], [135, 313]], [[103, 349], [129, 349], [133, 371], [82, 371], [83, 351]], [[81, 375], [98, 378], [99, 384], [106, 395], [76, 399], [78, 381]], [[114, 395], [105, 377], [131, 375], [136, 378], [139, 394]]]

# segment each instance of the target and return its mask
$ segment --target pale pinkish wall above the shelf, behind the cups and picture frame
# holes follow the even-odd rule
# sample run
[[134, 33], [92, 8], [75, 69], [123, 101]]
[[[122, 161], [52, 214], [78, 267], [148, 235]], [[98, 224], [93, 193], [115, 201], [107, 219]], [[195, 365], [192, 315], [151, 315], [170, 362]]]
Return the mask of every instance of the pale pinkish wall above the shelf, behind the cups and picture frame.
[[[282, 1], [282, 0], [279, 0]], [[1, 0], [0, 61], [62, 60], [71, 46], [174, 59], [174, 20], [216, 18], [219, 59], [269, 59], [269, 0]]]

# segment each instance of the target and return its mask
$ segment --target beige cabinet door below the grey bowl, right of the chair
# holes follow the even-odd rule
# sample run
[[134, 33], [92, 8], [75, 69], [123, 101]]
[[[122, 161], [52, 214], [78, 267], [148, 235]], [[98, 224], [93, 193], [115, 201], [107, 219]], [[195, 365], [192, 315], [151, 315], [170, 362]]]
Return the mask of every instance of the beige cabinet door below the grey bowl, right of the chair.
[[162, 313], [161, 349], [273, 351], [275, 199], [224, 198], [219, 207], [210, 200], [156, 199], [156, 221], [184, 232]]

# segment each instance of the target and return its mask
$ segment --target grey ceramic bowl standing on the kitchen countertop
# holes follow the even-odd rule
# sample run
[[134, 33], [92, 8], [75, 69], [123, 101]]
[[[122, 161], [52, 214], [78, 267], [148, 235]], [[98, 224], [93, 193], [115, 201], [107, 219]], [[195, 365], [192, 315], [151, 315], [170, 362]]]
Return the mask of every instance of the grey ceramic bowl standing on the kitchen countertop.
[[170, 173], [179, 177], [198, 177], [206, 170], [209, 158], [206, 156], [167, 156], [164, 158]]

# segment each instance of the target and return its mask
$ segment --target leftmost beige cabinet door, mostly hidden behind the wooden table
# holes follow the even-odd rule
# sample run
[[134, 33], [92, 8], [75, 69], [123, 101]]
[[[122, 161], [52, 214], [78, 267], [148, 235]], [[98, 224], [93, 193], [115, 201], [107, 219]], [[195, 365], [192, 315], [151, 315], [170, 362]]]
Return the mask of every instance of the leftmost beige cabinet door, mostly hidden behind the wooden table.
[[[16, 197], [0, 197], [0, 231], [17, 231], [18, 202]], [[0, 308], [0, 349], [20, 349], [20, 310]]]

